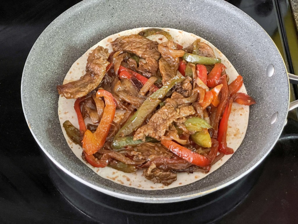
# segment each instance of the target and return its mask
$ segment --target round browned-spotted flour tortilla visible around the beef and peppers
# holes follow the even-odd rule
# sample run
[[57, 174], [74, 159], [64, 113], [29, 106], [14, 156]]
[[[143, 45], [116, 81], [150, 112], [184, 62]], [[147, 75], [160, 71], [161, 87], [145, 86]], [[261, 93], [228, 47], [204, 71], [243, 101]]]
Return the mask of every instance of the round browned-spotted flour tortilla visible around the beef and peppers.
[[[83, 56], [81, 56], [79, 59], [77, 59], [77, 61], [75, 61], [75, 63], [72, 65], [72, 67], [69, 69], [68, 73], [66, 74], [63, 84], [71, 81], [75, 81], [85, 74], [85, 67], [86, 67], [88, 55], [98, 45], [108, 48], [109, 52], [111, 52], [112, 47], [110, 42], [112, 42], [114, 39], [116, 39], [119, 36], [136, 34], [136, 33], [139, 33], [141, 30], [144, 30], [147, 28], [149, 27], [125, 30], [120, 33], [116, 33], [111, 36], [108, 36], [105, 39], [101, 40], [99, 43], [97, 43], [89, 50], [87, 50], [87, 52], [84, 53]], [[229, 78], [230, 78], [229, 83], [231, 83], [238, 76], [237, 71], [235, 70], [233, 65], [229, 62], [229, 60], [224, 56], [224, 54], [221, 53], [215, 46], [213, 46], [207, 40], [182, 30], [176, 30], [171, 28], [161, 28], [161, 29], [169, 32], [173, 36], [174, 41], [176, 43], [179, 43], [183, 47], [187, 47], [191, 45], [196, 39], [200, 39], [201, 42], [207, 43], [214, 50], [215, 56], [218, 58], [221, 58], [221, 63], [223, 63], [226, 66], [226, 73], [229, 75]], [[162, 35], [153, 35], [153, 36], [149, 36], [148, 38], [151, 40], [157, 41], [159, 43], [167, 41], [167, 39]], [[239, 92], [247, 93], [244, 85], [242, 85]], [[92, 169], [96, 174], [100, 175], [105, 179], [109, 179], [113, 182], [116, 182], [118, 184], [122, 184], [127, 187], [142, 189], [142, 190], [162, 190], [162, 189], [175, 188], [175, 187], [193, 183], [195, 181], [198, 181], [206, 177], [208, 174], [212, 173], [213, 171], [218, 169], [221, 165], [223, 165], [230, 157], [232, 157], [232, 155], [225, 155], [221, 160], [219, 160], [218, 162], [212, 165], [210, 172], [207, 174], [203, 174], [201, 172], [194, 172], [193, 174], [178, 173], [177, 180], [168, 186], [165, 186], [160, 183], [154, 184], [153, 182], [151, 182], [150, 180], [146, 179], [143, 176], [142, 170], [138, 170], [134, 173], [127, 174], [110, 167], [105, 167], [105, 168], [93, 167], [85, 160], [83, 160], [82, 158], [83, 149], [79, 145], [76, 145], [75, 143], [73, 143], [71, 139], [69, 139], [62, 125], [63, 122], [65, 122], [66, 120], [69, 120], [76, 128], [79, 128], [79, 125], [77, 122], [77, 115], [73, 108], [74, 103], [75, 103], [75, 99], [66, 99], [63, 95], [60, 95], [59, 97], [58, 115], [59, 115], [61, 129], [67, 144], [69, 145], [73, 153], [90, 169]], [[117, 110], [114, 120], [117, 121], [121, 119], [124, 112], [125, 111]], [[234, 151], [238, 149], [238, 147], [240, 146], [241, 142], [244, 139], [247, 125], [248, 125], [248, 119], [249, 119], [249, 106], [233, 103], [232, 111], [231, 111], [231, 114], [229, 117], [229, 123], [228, 123], [227, 145], [233, 148]], [[86, 124], [92, 123], [91, 119], [89, 118], [85, 119], [85, 122]], [[66, 150], [66, 149], [61, 149], [61, 150]]]

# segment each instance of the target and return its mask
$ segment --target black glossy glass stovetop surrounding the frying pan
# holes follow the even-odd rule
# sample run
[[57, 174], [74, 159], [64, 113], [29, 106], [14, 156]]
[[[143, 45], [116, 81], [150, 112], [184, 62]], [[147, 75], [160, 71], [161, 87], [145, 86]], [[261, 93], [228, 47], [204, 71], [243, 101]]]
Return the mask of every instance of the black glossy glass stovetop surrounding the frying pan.
[[[0, 2], [0, 223], [297, 223], [296, 111], [289, 113], [280, 140], [254, 171], [229, 187], [186, 202], [120, 200], [86, 187], [48, 161], [24, 119], [21, 75], [40, 33], [77, 2]], [[297, 30], [288, 1], [229, 2], [267, 31], [288, 71], [297, 74], [292, 63], [297, 61]], [[291, 90], [297, 99], [297, 86]]]

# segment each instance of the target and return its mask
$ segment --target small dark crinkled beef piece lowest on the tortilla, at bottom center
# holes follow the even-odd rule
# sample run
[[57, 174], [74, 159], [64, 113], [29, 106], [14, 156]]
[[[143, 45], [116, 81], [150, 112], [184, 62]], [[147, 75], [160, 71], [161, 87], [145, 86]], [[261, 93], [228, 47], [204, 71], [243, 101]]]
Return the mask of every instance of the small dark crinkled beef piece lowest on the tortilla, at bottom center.
[[153, 183], [162, 183], [164, 185], [170, 185], [177, 180], [177, 174], [168, 171], [162, 171], [156, 168], [156, 165], [152, 163], [147, 170], [143, 170], [144, 177], [151, 180]]

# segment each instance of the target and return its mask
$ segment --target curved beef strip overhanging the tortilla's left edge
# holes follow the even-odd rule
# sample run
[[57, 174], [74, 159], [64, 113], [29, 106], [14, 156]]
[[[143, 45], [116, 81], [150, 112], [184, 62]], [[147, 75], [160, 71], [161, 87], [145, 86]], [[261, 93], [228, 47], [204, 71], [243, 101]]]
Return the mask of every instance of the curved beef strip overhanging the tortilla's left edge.
[[77, 99], [86, 96], [94, 90], [103, 79], [105, 69], [110, 64], [108, 59], [108, 49], [101, 46], [96, 47], [92, 53], [89, 53], [86, 65], [86, 74], [77, 81], [69, 82], [64, 85], [58, 85], [59, 94], [63, 94], [67, 99]]

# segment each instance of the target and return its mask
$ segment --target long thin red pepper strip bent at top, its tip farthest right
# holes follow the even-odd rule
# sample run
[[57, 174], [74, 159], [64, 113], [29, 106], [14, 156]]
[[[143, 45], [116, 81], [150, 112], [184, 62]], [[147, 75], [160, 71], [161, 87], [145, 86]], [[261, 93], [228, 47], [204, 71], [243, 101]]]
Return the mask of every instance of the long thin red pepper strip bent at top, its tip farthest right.
[[218, 137], [217, 137], [218, 144], [219, 144], [218, 151], [225, 155], [234, 153], [234, 150], [232, 148], [227, 147], [226, 145], [226, 133], [228, 130], [228, 120], [232, 110], [232, 104], [234, 101], [237, 103], [239, 102], [241, 105], [247, 105], [247, 106], [256, 103], [254, 99], [252, 99], [252, 97], [250, 97], [245, 93], [235, 93], [230, 97], [229, 103], [226, 105], [223, 116], [221, 118], [221, 122], [219, 123]]

